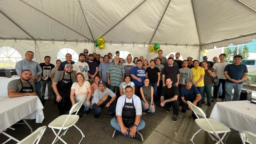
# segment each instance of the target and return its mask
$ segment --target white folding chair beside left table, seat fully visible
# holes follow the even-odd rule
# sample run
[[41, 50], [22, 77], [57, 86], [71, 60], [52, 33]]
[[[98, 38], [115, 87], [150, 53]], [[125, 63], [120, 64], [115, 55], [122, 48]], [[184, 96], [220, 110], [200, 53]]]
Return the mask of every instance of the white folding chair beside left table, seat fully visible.
[[[67, 144], [62, 138], [61, 136], [62, 135], [65, 135], [66, 132], [68, 131], [68, 129], [70, 127], [72, 127], [73, 125], [75, 126], [76, 129], [78, 129], [81, 134], [82, 134], [82, 139], [85, 137], [85, 135], [83, 134], [83, 132], [75, 125], [75, 123], [78, 121], [79, 119], [79, 115], [76, 115], [80, 109], [80, 107], [82, 106], [83, 102], [84, 102], [85, 98], [83, 98], [82, 100], [80, 100], [78, 103], [76, 103], [72, 108], [71, 110], [69, 111], [69, 114], [64, 114], [64, 115], [61, 115], [59, 117], [57, 117], [56, 119], [54, 119], [49, 125], [48, 127], [49, 128], [52, 128], [53, 130], [53, 133], [56, 135], [56, 137], [54, 138], [53, 140], [53, 143], [57, 142], [58, 139], [60, 139], [63, 143]], [[72, 113], [75, 113], [72, 114]], [[55, 132], [54, 129], [58, 129], [59, 132], [58, 134]], [[60, 132], [61, 130], [66, 130], [64, 131], [60, 136]], [[80, 140], [80, 142], [82, 141], [82, 139]], [[80, 142], [78, 144], [80, 144]], [[53, 144], [52, 143], [52, 144]]]

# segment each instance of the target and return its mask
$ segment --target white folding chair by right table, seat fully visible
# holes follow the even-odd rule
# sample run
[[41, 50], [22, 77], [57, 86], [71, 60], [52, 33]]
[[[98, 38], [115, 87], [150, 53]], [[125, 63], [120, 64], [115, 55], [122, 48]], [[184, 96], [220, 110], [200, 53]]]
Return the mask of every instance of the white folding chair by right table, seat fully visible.
[[[201, 128], [200, 130], [198, 130], [193, 136], [192, 138], [190, 139], [190, 141], [192, 141], [192, 143], [194, 144], [193, 142], [193, 138], [194, 136], [199, 133], [202, 129], [204, 131], [206, 131], [210, 137], [212, 138], [212, 140], [215, 140], [217, 141], [215, 144], [217, 143], [223, 143], [223, 138], [225, 137], [226, 133], [227, 132], [230, 132], [230, 129], [225, 126], [223, 123], [215, 120], [215, 119], [212, 119], [212, 118], [206, 118], [206, 115], [205, 113], [203, 112], [202, 109], [200, 109], [199, 107], [195, 106], [194, 104], [192, 104], [190, 101], [187, 101], [188, 105], [190, 106], [190, 108], [192, 109], [192, 111], [196, 114], [196, 116], [198, 117], [198, 115], [201, 115], [203, 116], [203, 118], [197, 118], [195, 120], [196, 124]], [[222, 138], [219, 137], [218, 134], [221, 134], [221, 133], [224, 133]], [[217, 140], [217, 138], [215, 139], [211, 134], [215, 135], [219, 140]]]

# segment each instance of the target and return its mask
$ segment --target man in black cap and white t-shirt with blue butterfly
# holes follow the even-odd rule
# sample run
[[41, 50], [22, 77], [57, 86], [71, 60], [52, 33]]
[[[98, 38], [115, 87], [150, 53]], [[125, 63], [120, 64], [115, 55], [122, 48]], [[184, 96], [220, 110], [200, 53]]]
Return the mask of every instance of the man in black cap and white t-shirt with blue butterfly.
[[88, 71], [90, 69], [89, 69], [89, 65], [84, 61], [85, 61], [85, 54], [80, 53], [78, 62], [75, 62], [75, 64], [73, 65], [74, 66], [73, 73], [76, 75], [77, 72], [81, 72], [84, 75], [84, 80], [89, 81]]

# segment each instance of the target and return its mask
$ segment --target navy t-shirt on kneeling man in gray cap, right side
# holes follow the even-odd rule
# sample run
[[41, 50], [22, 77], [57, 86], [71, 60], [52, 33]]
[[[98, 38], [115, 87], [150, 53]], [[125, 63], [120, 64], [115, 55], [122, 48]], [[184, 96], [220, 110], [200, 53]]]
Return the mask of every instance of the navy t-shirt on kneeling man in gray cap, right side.
[[192, 85], [191, 89], [186, 89], [186, 86], [181, 87], [181, 97], [184, 97], [185, 100], [194, 99], [199, 94], [199, 91], [196, 86]]

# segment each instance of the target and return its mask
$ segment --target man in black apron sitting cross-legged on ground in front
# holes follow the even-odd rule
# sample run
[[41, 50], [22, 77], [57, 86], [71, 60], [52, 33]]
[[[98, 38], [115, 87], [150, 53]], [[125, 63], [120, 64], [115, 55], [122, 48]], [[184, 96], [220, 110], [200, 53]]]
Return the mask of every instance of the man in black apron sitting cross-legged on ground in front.
[[110, 122], [112, 127], [116, 129], [112, 137], [122, 134], [143, 141], [142, 135], [138, 132], [145, 127], [145, 122], [140, 119], [141, 101], [138, 96], [133, 94], [131, 86], [126, 86], [125, 94], [118, 98], [116, 113], [117, 117], [114, 117]]

